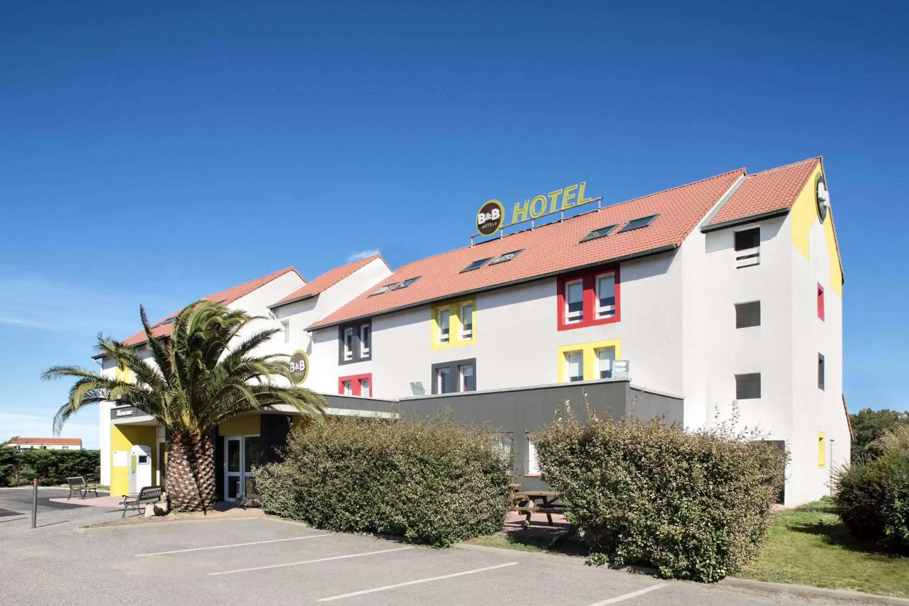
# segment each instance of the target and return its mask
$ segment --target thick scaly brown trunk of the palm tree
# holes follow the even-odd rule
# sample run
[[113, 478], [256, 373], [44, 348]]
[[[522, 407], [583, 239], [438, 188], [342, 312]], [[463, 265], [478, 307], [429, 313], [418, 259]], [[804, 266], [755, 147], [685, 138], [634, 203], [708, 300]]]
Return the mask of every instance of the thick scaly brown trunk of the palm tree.
[[215, 505], [215, 445], [207, 434], [171, 432], [165, 490], [180, 512], [208, 512]]

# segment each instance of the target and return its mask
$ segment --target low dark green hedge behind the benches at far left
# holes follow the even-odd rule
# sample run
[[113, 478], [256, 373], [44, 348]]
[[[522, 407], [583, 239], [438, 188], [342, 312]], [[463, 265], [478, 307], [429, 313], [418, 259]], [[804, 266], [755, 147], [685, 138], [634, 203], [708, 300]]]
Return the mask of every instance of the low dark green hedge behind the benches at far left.
[[53, 486], [65, 484], [66, 478], [75, 475], [85, 476], [85, 482], [98, 482], [98, 451], [0, 448], [0, 486], [18, 486], [35, 478], [43, 486]]

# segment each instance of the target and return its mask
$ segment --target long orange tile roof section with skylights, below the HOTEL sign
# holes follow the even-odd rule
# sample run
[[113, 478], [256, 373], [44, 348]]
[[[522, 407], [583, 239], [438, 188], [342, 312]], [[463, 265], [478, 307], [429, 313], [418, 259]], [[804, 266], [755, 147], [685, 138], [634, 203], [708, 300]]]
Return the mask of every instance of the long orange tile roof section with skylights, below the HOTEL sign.
[[[376, 313], [387, 313], [455, 295], [678, 246], [742, 175], [744, 168], [658, 194], [605, 206], [599, 212], [579, 214], [562, 223], [545, 224], [533, 230], [479, 243], [473, 248], [465, 246], [407, 263], [379, 285], [422, 276], [415, 283], [406, 288], [370, 296], [378, 288], [376, 286], [313, 323], [310, 328], [332, 326]], [[649, 226], [618, 233], [628, 221], [651, 214], [658, 216]], [[611, 224], [618, 225], [613, 233], [604, 238], [580, 242], [591, 230]], [[478, 270], [461, 273], [469, 263], [518, 249], [523, 249], [523, 252], [511, 261], [484, 265]]]

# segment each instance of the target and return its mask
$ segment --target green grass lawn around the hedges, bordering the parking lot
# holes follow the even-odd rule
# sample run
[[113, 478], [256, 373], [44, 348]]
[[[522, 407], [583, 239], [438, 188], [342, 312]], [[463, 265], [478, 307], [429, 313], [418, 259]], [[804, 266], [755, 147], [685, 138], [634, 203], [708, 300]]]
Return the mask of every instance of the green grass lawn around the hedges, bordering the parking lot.
[[[893, 558], [857, 541], [832, 512], [829, 500], [775, 512], [764, 551], [735, 576], [909, 598], [909, 558]], [[478, 537], [469, 543], [521, 551], [585, 556], [586, 545], [568, 541], [550, 550], [549, 537], [522, 533]]]

